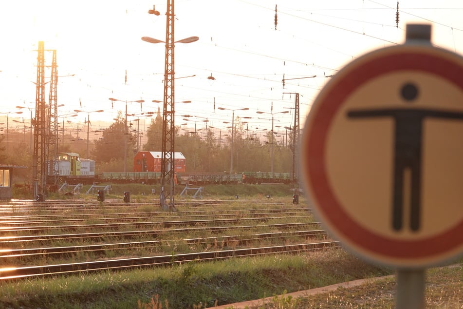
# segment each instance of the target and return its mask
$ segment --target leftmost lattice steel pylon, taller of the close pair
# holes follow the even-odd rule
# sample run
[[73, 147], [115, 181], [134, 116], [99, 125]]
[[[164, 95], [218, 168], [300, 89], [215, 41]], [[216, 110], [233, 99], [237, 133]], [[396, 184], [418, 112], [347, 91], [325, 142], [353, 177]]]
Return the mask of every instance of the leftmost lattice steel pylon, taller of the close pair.
[[36, 115], [32, 119], [34, 126], [34, 152], [32, 162], [32, 177], [34, 180], [34, 198], [41, 194], [42, 200], [46, 192], [47, 177], [47, 121], [45, 103], [45, 54], [43, 41], [38, 42], [37, 49], [37, 82], [36, 82]]

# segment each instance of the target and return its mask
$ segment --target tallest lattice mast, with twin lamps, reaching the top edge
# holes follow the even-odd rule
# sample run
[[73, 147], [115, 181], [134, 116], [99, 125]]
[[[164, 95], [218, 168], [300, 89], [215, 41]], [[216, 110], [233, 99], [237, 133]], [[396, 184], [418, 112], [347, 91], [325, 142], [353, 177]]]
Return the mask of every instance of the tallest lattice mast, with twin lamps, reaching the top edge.
[[[161, 146], [161, 193], [159, 196], [161, 208], [175, 210], [175, 64], [174, 64], [174, 0], [167, 0], [166, 21], [166, 61], [164, 65], [164, 107], [163, 132]], [[166, 192], [166, 182], [170, 188]], [[169, 202], [167, 204], [167, 198]]]

